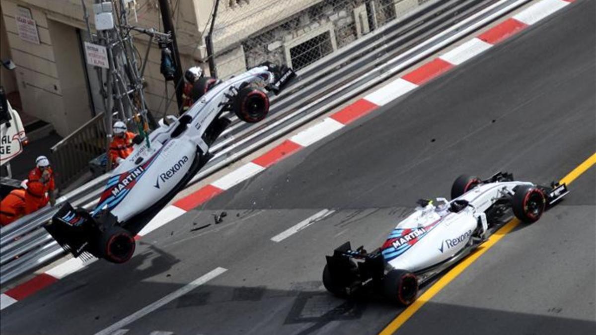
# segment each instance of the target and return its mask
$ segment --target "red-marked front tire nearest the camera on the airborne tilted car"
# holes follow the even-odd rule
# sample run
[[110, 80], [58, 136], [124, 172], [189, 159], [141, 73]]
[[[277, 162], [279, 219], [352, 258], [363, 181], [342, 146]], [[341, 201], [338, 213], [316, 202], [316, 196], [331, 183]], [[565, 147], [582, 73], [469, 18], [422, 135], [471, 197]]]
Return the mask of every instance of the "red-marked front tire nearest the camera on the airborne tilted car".
[[238, 119], [256, 123], [265, 119], [269, 113], [269, 97], [262, 89], [249, 85], [240, 89], [234, 98], [233, 108]]

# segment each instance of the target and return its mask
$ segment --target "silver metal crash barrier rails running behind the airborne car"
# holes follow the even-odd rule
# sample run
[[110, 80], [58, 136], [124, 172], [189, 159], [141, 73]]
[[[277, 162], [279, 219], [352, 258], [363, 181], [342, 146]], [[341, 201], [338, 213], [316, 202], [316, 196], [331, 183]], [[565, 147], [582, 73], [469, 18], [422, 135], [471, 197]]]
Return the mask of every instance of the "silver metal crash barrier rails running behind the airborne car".
[[[220, 141], [220, 143], [228, 141], [231, 144], [226, 146], [216, 142], [216, 145], [212, 147], [214, 149], [213, 159], [193, 178], [191, 183], [241, 159], [241, 157], [252, 153], [254, 150], [258, 150], [258, 148], [309, 122], [314, 117], [325, 113], [330, 108], [340, 106], [350, 98], [370, 89], [374, 85], [378, 85], [378, 83], [432, 55], [446, 45], [467, 36], [474, 30], [485, 26], [489, 22], [496, 20], [496, 18], [530, 1], [532, 0], [494, 0], [484, 2], [478, 0], [474, 3], [479, 5], [485, 4], [485, 6], [481, 6], [481, 8], [468, 8], [463, 12], [455, 10], [452, 13], [464, 13], [462, 14], [464, 17], [462, 15], [452, 15], [451, 21], [449, 21], [450, 23], [443, 21], [443, 25], [436, 26], [435, 30], [423, 29], [423, 33], [421, 34], [426, 36], [426, 38], [422, 41], [417, 39], [418, 35], [415, 30], [410, 32], [410, 35], [413, 36], [410, 39], [407, 39], [407, 36], [404, 37], [408, 34], [397, 34], [398, 38], [406, 38], [405, 41], [402, 41], [402, 48], [398, 48], [400, 52], [398, 55], [392, 54], [392, 52], [384, 52], [379, 56], [378, 52], [373, 51], [372, 54], [380, 61], [383, 61], [383, 63], [372, 62], [368, 66], [361, 66], [362, 71], [350, 69], [350, 63], [346, 66], [350, 75], [344, 77], [343, 80], [334, 79], [334, 75], [342, 72], [343, 68], [340, 70], [329, 70], [325, 67], [328, 70], [328, 75], [326, 76], [320, 76], [319, 72], [301, 73], [300, 75], [305, 79], [295, 83], [288, 88], [288, 91], [293, 91], [294, 87], [300, 86], [301, 83], [308, 83], [311, 80], [309, 78], [313, 76], [319, 76], [320, 79], [318, 81], [324, 82], [324, 85], [321, 85], [321, 89], [318, 91], [311, 91], [305, 88], [302, 91], [295, 91], [294, 94], [285, 95], [285, 98], [284, 94], [282, 94], [275, 100], [275, 104], [272, 105], [271, 116], [268, 119], [265, 119], [262, 123], [256, 123], [248, 129], [236, 126], [235, 131], [230, 132]], [[460, 2], [463, 5], [470, 3], [470, 1]], [[436, 18], [436, 15], [433, 13], [429, 13], [429, 16]], [[433, 20], [429, 22], [436, 23]], [[412, 22], [412, 24], [419, 28], [425, 26], [420, 22]], [[439, 30], [437, 31], [436, 29]], [[429, 33], [433, 35], [429, 37], [427, 35]], [[389, 34], [384, 34], [383, 38], [377, 44], [372, 44], [377, 51], [380, 49], [379, 45], [392, 44], [390, 43], [391, 41], [384, 39], [386, 36], [389, 36]], [[393, 48], [395, 48], [395, 45]], [[355, 61], [355, 64], [358, 63], [358, 61]], [[372, 69], [371, 66], [373, 67]], [[306, 95], [305, 91], [309, 92], [308, 95]], [[297, 104], [301, 105], [296, 107], [293, 101], [297, 101]], [[241, 125], [241, 123], [237, 123], [237, 125]], [[246, 136], [240, 137], [237, 135], [238, 132]], [[66, 194], [63, 198], [58, 199], [57, 207], [65, 200], [69, 200], [74, 206], [85, 208], [94, 206], [101, 193], [101, 187], [106, 180], [107, 175], [103, 175], [83, 185], [83, 187]], [[45, 229], [40, 229], [54, 213], [54, 208], [46, 207], [41, 212], [35, 213], [35, 215], [21, 218], [19, 221], [14, 222], [14, 224], [0, 229], [0, 266], [2, 272], [0, 284], [7, 283], [9, 280], [63, 255], [63, 250], [53, 240], [44, 238]], [[18, 258], [15, 258], [15, 255], [18, 253], [20, 255]]]

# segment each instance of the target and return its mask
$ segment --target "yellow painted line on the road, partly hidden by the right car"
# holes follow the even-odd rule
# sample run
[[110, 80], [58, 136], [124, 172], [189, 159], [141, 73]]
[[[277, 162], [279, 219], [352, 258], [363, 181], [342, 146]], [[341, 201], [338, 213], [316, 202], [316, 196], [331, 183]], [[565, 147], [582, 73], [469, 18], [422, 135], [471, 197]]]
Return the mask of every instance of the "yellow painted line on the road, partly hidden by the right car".
[[[574, 181], [576, 178], [582, 175], [582, 173], [586, 172], [586, 170], [591, 168], [591, 166], [593, 166], [594, 164], [596, 164], [596, 153], [592, 154], [592, 156], [590, 156], [588, 159], [583, 161], [583, 163], [578, 165], [577, 168], [573, 169], [572, 172], [569, 172], [569, 174], [564, 176], [563, 179], [560, 180], [560, 183], [563, 184], [564, 182], [566, 184], [570, 184], [572, 181]], [[449, 270], [449, 272], [447, 272], [445, 275], [443, 275], [443, 277], [437, 280], [437, 282], [434, 283], [433, 286], [429, 287], [429, 289], [426, 290], [420, 297], [418, 297], [418, 299], [415, 300], [414, 303], [412, 303], [412, 305], [409, 305], [408, 308], [406, 308], [403, 312], [401, 312], [401, 314], [398, 315], [398, 317], [391, 321], [390, 324], [387, 325], [387, 327], [381, 330], [379, 335], [389, 335], [395, 333], [395, 331], [397, 331], [399, 327], [401, 327], [404, 324], [404, 322], [408, 321], [408, 319], [412, 317], [412, 315], [414, 315], [414, 313], [417, 312], [418, 309], [424, 306], [425, 303], [429, 302], [429, 300], [432, 299], [432, 297], [435, 294], [439, 293], [439, 291], [442, 290], [443, 287], [447, 286], [447, 284], [451, 283], [452, 280], [454, 280], [458, 275], [460, 275], [461, 272], [465, 270], [465, 268], [470, 266], [471, 263], [474, 263], [476, 259], [478, 259], [480, 256], [482, 256], [483, 253], [486, 252], [486, 250], [491, 249], [493, 245], [495, 245], [499, 240], [501, 240], [501, 238], [507, 235], [508, 232], [512, 231], [519, 224], [520, 221], [518, 219], [513, 219], [510, 222], [507, 222], [507, 224], [505, 224], [498, 231], [492, 234], [491, 237], [489, 237], [488, 241], [479, 246], [478, 249], [474, 250], [474, 252], [471, 253], [470, 256], [464, 258], [464, 260], [458, 263], [454, 268]]]

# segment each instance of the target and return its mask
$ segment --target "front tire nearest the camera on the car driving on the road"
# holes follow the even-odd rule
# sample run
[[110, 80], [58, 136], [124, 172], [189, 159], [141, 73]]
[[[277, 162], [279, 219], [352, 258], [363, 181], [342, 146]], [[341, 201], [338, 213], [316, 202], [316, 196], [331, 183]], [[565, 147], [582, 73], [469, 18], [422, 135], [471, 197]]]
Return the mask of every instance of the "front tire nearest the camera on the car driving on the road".
[[532, 185], [517, 187], [511, 200], [514, 215], [527, 224], [538, 221], [546, 205], [547, 199], [542, 190]]

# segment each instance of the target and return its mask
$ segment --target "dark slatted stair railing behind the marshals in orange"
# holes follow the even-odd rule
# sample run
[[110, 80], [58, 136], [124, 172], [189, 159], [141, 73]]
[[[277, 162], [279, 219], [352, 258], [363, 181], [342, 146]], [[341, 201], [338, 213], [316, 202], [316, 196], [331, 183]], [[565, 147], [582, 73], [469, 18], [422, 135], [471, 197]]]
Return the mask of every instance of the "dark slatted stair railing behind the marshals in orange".
[[58, 188], [64, 188], [89, 170], [89, 161], [105, 153], [104, 113], [99, 113], [50, 148]]

